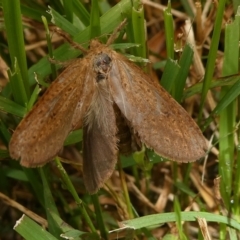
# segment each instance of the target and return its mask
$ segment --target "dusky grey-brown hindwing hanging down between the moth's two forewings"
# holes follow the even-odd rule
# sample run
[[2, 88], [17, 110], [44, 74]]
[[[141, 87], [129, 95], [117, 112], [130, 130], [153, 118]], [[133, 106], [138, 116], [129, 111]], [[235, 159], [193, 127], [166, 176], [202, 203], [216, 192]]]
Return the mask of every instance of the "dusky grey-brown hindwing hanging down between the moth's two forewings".
[[112, 175], [118, 159], [117, 126], [112, 104], [110, 100], [101, 101], [100, 116], [96, 117], [94, 113], [90, 123], [83, 127], [83, 179], [91, 194]]

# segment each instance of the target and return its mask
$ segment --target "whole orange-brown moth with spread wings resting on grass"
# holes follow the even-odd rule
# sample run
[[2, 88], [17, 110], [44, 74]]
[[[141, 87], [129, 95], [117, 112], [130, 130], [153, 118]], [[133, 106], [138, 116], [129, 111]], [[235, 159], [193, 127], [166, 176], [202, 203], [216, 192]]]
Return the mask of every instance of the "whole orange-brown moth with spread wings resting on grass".
[[[77, 126], [83, 129], [83, 178], [95, 193], [112, 175], [124, 126], [131, 142], [177, 161], [205, 155], [194, 120], [158, 83], [125, 56], [98, 40], [70, 64], [23, 118], [9, 143], [10, 156], [39, 167], [61, 150]], [[121, 122], [123, 122], [121, 124]], [[119, 124], [120, 123], [120, 124]]]

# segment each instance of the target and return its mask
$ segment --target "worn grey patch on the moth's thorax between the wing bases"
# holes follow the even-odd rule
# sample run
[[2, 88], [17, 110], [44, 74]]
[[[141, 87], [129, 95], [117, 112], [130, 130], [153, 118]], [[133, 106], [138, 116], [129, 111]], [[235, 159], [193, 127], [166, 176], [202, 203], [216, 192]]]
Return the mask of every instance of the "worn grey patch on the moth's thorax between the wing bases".
[[106, 53], [99, 53], [93, 60], [93, 69], [96, 73], [97, 82], [107, 79], [108, 72], [112, 67], [112, 59]]

